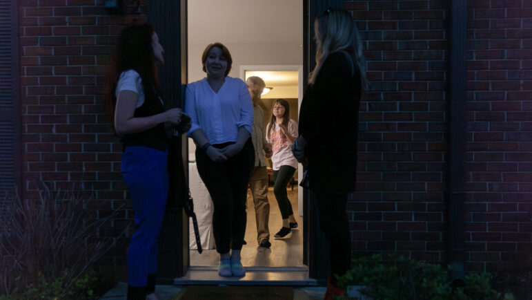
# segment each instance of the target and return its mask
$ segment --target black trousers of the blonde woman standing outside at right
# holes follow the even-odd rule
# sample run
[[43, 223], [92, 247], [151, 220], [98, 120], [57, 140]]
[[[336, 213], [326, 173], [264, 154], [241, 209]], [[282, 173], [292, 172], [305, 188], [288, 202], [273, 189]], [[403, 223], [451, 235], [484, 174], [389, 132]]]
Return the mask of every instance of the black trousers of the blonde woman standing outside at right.
[[335, 194], [333, 191], [312, 192], [319, 210], [319, 226], [330, 245], [331, 281], [335, 284], [333, 274], [342, 276], [351, 267], [351, 234], [346, 214], [348, 194]]

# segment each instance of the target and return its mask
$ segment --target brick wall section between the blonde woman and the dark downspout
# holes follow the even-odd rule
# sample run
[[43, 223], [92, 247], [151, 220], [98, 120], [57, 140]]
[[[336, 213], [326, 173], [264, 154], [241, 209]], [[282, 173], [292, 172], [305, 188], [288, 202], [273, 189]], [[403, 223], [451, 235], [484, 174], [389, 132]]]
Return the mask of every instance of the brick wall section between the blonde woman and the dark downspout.
[[447, 1], [345, 1], [370, 82], [360, 108], [354, 252], [443, 261]]

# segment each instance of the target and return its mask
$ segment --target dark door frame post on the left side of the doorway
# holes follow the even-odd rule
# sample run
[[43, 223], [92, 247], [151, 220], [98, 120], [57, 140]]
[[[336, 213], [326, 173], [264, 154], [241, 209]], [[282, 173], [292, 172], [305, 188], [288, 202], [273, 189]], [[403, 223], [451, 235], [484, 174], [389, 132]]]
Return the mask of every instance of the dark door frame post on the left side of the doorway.
[[[187, 82], [187, 20], [186, 0], [148, 2], [148, 22], [155, 26], [165, 50], [165, 65], [159, 70], [159, 80], [167, 107], [184, 109]], [[188, 162], [186, 136], [175, 135], [170, 140], [168, 158], [170, 195], [159, 237], [157, 283], [173, 284], [175, 278], [188, 270], [188, 218], [180, 205], [180, 169]], [[185, 169], [188, 182], [188, 169]]]

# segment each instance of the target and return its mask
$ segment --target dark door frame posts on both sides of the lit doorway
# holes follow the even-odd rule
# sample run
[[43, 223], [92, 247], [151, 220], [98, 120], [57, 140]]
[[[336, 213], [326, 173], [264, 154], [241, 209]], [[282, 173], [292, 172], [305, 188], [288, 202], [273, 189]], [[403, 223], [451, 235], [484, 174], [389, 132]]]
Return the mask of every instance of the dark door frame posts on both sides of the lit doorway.
[[[314, 19], [326, 8], [343, 8], [343, 0], [302, 0], [303, 4], [303, 76], [304, 89], [308, 85], [308, 74], [315, 66], [316, 47]], [[179, 16], [179, 17], [176, 17]], [[187, 82], [187, 0], [148, 1], [148, 21], [155, 26], [161, 44], [166, 51], [166, 65], [159, 71], [161, 87], [170, 107], [184, 108], [184, 91]], [[181, 72], [175, 72], [180, 70]], [[188, 165], [188, 140], [181, 136], [179, 149], [170, 156], [182, 158]], [[185, 168], [188, 182], [188, 168]], [[308, 265], [309, 277], [324, 284], [328, 275], [328, 243], [319, 229], [316, 205], [307, 189], [303, 191], [304, 246], [303, 263]], [[175, 278], [184, 276], [190, 266], [188, 252], [188, 218], [178, 209], [177, 214], [167, 212], [163, 231], [159, 238], [158, 282], [171, 284]]]

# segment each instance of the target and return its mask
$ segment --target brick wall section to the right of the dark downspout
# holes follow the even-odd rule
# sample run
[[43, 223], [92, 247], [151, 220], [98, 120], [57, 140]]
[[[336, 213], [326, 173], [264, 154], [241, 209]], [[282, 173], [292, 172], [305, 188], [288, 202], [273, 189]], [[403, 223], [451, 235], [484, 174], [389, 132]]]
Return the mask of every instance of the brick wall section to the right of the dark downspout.
[[468, 1], [470, 270], [532, 254], [532, 1]]

